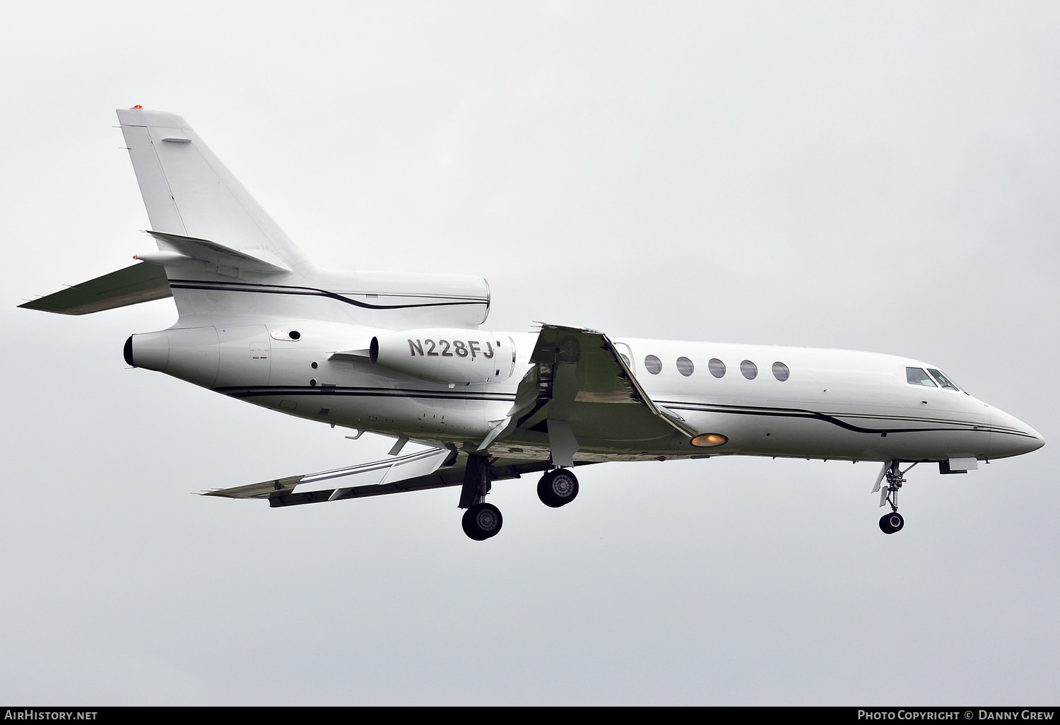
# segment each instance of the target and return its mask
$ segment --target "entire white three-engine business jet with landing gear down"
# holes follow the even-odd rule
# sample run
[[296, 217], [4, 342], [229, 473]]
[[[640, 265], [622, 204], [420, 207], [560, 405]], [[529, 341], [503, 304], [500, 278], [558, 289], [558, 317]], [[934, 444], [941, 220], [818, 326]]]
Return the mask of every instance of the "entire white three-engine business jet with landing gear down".
[[[485, 502], [496, 480], [543, 473], [538, 497], [561, 507], [584, 464], [783, 456], [881, 463], [880, 528], [894, 533], [914, 465], [959, 474], [1044, 444], [920, 360], [482, 329], [485, 280], [318, 269], [183, 119], [118, 118], [157, 250], [21, 306], [82, 315], [172, 296], [177, 322], [130, 336], [130, 366], [395, 439], [382, 461], [206, 495], [284, 507], [459, 487], [464, 532], [482, 541], [501, 527]], [[420, 449], [402, 455], [409, 441]]]

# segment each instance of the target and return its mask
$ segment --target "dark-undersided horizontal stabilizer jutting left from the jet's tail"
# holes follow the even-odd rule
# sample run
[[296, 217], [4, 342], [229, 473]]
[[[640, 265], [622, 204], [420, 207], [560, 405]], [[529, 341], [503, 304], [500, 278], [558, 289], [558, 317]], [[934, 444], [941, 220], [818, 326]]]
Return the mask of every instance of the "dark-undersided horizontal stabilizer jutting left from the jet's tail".
[[87, 315], [166, 297], [173, 297], [173, 293], [165, 269], [156, 264], [134, 264], [18, 306], [60, 315]]

